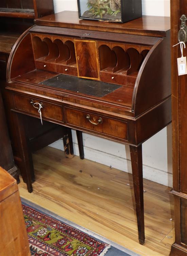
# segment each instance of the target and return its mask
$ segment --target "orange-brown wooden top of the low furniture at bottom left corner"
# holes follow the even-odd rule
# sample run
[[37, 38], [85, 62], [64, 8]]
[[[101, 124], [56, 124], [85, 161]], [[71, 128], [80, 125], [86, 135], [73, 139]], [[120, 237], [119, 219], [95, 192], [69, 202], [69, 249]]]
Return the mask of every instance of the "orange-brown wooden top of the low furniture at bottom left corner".
[[0, 167], [0, 202], [18, 190], [16, 180]]

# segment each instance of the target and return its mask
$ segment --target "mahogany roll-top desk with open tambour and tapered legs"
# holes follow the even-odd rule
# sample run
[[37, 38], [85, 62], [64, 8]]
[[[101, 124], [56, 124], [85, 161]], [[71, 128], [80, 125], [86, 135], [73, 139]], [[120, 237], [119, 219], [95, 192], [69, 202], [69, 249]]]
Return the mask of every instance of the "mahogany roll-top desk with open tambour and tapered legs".
[[[141, 145], [171, 122], [170, 18], [112, 24], [65, 11], [35, 24], [19, 37], [7, 65], [6, 89], [23, 151], [24, 117], [40, 118], [40, 111], [43, 120], [130, 145], [143, 244]], [[31, 166], [25, 169], [29, 192]]]

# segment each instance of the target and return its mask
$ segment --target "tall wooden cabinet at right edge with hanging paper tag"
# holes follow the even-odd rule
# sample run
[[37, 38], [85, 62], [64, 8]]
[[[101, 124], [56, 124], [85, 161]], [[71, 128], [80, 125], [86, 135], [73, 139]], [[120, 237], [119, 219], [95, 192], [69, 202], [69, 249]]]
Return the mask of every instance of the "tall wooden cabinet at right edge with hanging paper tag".
[[[178, 41], [182, 15], [187, 16], [187, 1], [171, 2], [171, 45]], [[187, 44], [183, 55], [187, 56]], [[187, 256], [187, 75], [177, 74], [180, 45], [172, 47], [171, 57], [175, 243], [170, 256]]]

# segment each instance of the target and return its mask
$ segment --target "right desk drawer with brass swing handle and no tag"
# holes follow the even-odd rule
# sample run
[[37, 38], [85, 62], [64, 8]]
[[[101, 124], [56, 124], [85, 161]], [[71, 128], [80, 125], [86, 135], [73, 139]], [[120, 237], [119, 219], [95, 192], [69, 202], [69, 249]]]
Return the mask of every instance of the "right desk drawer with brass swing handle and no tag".
[[108, 135], [107, 137], [128, 139], [126, 122], [67, 107], [65, 107], [65, 112], [67, 124], [102, 133]]

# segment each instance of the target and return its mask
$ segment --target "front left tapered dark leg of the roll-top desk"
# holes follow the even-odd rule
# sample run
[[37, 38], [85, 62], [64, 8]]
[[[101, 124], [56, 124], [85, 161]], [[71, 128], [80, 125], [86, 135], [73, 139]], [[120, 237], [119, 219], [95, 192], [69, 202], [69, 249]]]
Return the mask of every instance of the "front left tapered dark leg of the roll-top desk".
[[29, 138], [27, 136], [27, 122], [26, 118], [22, 114], [15, 114], [17, 121], [18, 121], [18, 127], [17, 127], [17, 134], [19, 137], [19, 152], [21, 157], [21, 176], [23, 178], [23, 181], [27, 183], [27, 189], [28, 192], [31, 193], [33, 191], [32, 189], [32, 179], [31, 175], [34, 174], [34, 168], [33, 168], [33, 161], [32, 161], [32, 153], [29, 149]]

